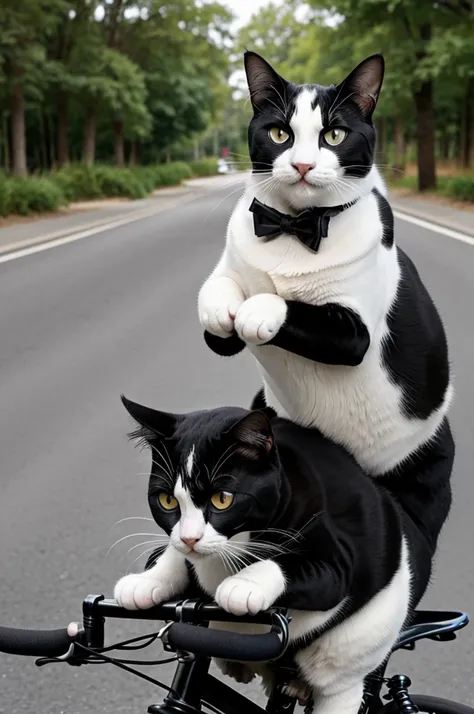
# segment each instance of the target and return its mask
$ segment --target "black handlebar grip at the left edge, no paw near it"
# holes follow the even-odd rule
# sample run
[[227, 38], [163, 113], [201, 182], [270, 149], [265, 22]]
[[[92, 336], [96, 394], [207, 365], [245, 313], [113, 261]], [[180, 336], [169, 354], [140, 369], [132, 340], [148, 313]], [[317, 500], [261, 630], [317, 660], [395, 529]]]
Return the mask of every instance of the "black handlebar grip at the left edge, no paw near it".
[[60, 657], [66, 654], [73, 638], [67, 629], [21, 630], [0, 627], [0, 652], [27, 657]]

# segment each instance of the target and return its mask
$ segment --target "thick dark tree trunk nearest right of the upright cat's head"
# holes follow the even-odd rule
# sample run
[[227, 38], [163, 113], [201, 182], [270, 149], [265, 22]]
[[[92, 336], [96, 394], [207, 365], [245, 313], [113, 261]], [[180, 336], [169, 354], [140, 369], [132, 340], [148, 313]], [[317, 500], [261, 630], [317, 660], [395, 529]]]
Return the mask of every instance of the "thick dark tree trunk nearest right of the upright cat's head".
[[416, 108], [418, 190], [436, 188], [433, 82], [427, 80], [413, 93]]

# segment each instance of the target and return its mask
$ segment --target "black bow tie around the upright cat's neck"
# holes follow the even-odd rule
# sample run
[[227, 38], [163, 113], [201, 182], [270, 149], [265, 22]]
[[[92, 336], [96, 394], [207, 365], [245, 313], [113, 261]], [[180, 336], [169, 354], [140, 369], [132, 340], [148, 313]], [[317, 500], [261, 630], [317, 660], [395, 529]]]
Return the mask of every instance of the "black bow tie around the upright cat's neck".
[[290, 216], [277, 211], [276, 208], [266, 206], [254, 198], [249, 211], [253, 213], [255, 235], [259, 238], [272, 240], [281, 233], [289, 233], [296, 236], [307, 248], [317, 253], [321, 240], [327, 237], [329, 220], [354, 203], [355, 201], [343, 206], [307, 208], [297, 216]]

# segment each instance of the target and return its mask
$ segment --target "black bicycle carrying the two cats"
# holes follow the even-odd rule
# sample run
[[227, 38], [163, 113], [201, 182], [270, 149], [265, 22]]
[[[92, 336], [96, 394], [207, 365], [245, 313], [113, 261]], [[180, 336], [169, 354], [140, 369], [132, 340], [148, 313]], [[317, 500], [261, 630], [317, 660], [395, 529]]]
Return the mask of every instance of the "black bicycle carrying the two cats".
[[[107, 618], [164, 621], [158, 631], [104, 646]], [[208, 629], [209, 622], [252, 622], [267, 625], [266, 634], [225, 633]], [[285, 660], [290, 615], [272, 608], [255, 616], [234, 617], [217, 605], [199, 600], [176, 600], [150, 610], [129, 611], [103, 595], [89, 595], [83, 603], [83, 622], [61, 630], [22, 630], [0, 627], [0, 652], [39, 657], [36, 664], [63, 662], [72, 666], [111, 663], [156, 684], [168, 693], [159, 704], [151, 704], [148, 714], [199, 714], [202, 707], [213, 714], [293, 714], [296, 699], [284, 693], [285, 685], [297, 676], [291, 661]], [[469, 623], [463, 612], [417, 610], [392, 649], [413, 650], [422, 639], [439, 642], [453, 640], [456, 632]], [[113, 650], [136, 651], [161, 640], [173, 656], [163, 660], [113, 658]], [[241, 662], [271, 662], [277, 684], [265, 709], [209, 674], [211, 658]], [[163, 684], [130, 665], [159, 665], [176, 661], [171, 686]], [[474, 709], [432, 696], [411, 694], [410, 679], [402, 674], [385, 677], [387, 660], [366, 678], [359, 714], [474, 714]], [[382, 694], [384, 688], [387, 690]], [[384, 704], [383, 700], [388, 703]], [[311, 704], [306, 706], [309, 713]]]

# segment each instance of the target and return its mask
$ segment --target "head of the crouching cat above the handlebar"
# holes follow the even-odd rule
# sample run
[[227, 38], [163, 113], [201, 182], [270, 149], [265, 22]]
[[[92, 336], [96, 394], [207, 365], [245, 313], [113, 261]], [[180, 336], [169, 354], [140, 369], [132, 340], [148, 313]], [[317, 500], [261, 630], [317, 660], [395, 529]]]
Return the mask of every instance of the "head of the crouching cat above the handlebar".
[[178, 551], [191, 562], [225, 558], [237, 547], [231, 538], [268, 527], [281, 497], [281, 470], [265, 411], [170, 414], [122, 401], [138, 424], [131, 437], [151, 449], [153, 518]]

